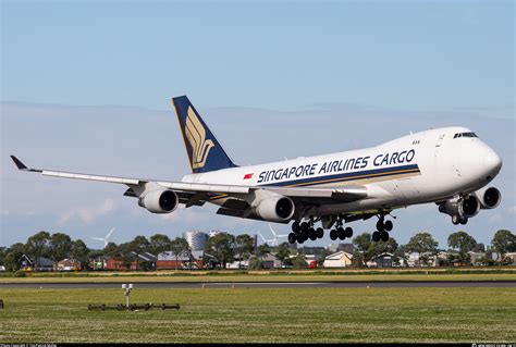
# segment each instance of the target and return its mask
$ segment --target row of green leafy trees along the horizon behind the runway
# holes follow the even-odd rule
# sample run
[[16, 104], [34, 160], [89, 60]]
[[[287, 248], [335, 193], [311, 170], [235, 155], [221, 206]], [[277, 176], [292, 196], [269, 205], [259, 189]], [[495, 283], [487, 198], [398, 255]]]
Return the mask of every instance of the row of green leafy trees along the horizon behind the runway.
[[[438, 241], [427, 232], [414, 235], [406, 245], [398, 245], [397, 241], [390, 237], [388, 241], [372, 241], [370, 233], [364, 233], [353, 239], [354, 244], [354, 263], [357, 267], [366, 265], [367, 262], [373, 260], [381, 253], [389, 252], [393, 255], [394, 263], [407, 261], [407, 253], [418, 252], [420, 255], [418, 264], [428, 264], [438, 250]], [[491, 240], [492, 248], [488, 250], [484, 264], [494, 264], [494, 260], [489, 252], [497, 253], [497, 263], [503, 264], [507, 261], [506, 253], [516, 251], [516, 236], [507, 231], [500, 230], [494, 234]], [[460, 264], [469, 264], [469, 251], [486, 252], [486, 246], [477, 243], [477, 240], [466, 232], [456, 232], [449, 236], [447, 246], [452, 250], [449, 252], [447, 259], [441, 260], [440, 265], [451, 265], [454, 262]], [[281, 261], [282, 265], [304, 268], [303, 250], [297, 250], [297, 256], [291, 256], [296, 252], [287, 243], [281, 244], [274, 248], [275, 258]], [[30, 236], [25, 244], [17, 243], [11, 247], [0, 247], [0, 265], [4, 265], [8, 271], [20, 269], [20, 259], [23, 255], [28, 256], [35, 261], [34, 267], [38, 267], [38, 259], [48, 258], [54, 262], [63, 259], [74, 259], [86, 267], [89, 260], [101, 256], [112, 257], [121, 260], [128, 268], [134, 261], [134, 255], [144, 255], [145, 252], [155, 256], [172, 251], [179, 259], [181, 256], [191, 255], [188, 243], [183, 237], [171, 239], [163, 234], [152, 235], [150, 238], [145, 236], [136, 236], [133, 240], [116, 245], [109, 243], [105, 249], [89, 249], [82, 239], [72, 240], [72, 238], [63, 233], [50, 234], [41, 231]], [[225, 264], [233, 261], [249, 261], [250, 269], [259, 269], [262, 267], [263, 259], [271, 253], [272, 248], [267, 245], [260, 245], [255, 248], [254, 238], [247, 234], [231, 235], [228, 233], [219, 233], [210, 237], [205, 247], [205, 263], [219, 264], [225, 268]], [[318, 255], [317, 261], [322, 263], [329, 250]], [[143, 265], [145, 268], [145, 265]], [[140, 269], [144, 269], [140, 268]]]

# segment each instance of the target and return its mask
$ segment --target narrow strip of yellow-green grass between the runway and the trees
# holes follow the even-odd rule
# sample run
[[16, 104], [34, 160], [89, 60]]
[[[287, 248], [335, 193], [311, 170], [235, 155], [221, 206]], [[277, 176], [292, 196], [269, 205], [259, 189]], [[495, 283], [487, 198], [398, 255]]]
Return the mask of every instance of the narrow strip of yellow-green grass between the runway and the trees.
[[273, 271], [159, 271], [34, 273], [17, 278], [3, 273], [5, 282], [378, 282], [378, 281], [516, 281], [516, 268], [441, 268], [376, 270], [273, 270]]

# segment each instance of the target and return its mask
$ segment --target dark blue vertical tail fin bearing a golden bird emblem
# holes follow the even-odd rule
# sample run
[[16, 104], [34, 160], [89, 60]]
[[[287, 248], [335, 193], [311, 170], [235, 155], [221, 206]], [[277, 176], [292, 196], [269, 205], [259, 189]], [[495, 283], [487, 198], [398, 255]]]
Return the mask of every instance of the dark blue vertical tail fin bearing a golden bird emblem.
[[235, 168], [186, 96], [172, 98], [193, 173]]

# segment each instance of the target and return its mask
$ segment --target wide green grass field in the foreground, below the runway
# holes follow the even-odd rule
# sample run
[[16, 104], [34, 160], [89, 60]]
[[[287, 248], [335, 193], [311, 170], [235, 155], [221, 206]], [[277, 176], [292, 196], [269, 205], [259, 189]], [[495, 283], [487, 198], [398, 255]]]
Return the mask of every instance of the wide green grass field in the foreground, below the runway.
[[514, 343], [514, 288], [0, 289], [2, 343]]

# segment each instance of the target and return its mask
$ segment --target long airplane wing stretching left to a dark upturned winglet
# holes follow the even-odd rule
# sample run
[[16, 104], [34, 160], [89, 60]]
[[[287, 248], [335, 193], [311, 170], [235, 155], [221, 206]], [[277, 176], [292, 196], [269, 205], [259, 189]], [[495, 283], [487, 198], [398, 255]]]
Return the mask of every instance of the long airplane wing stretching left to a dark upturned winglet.
[[[185, 183], [185, 182], [168, 182], [159, 179], [146, 178], [128, 178], [116, 176], [103, 176], [85, 173], [72, 173], [45, 169], [29, 169], [20, 159], [11, 156], [17, 169], [25, 172], [40, 173], [44, 176], [86, 179], [96, 182], [118, 183], [130, 187], [125, 191], [125, 196], [137, 197], [135, 191], [142, 190], [147, 183], [156, 183], [164, 188], [176, 191], [180, 196], [180, 202], [186, 203], [186, 207], [193, 205], [202, 205], [214, 195], [223, 195], [228, 197], [242, 198], [243, 196], [258, 189], [268, 190], [286, 197], [291, 197], [296, 201], [320, 203], [321, 201], [352, 202], [368, 197], [365, 186], [347, 186], [339, 188], [311, 188], [311, 187], [272, 187], [272, 186], [239, 186], [223, 185], [208, 183]], [[139, 189], [138, 189], [139, 187]]]

